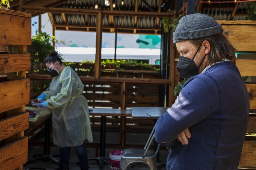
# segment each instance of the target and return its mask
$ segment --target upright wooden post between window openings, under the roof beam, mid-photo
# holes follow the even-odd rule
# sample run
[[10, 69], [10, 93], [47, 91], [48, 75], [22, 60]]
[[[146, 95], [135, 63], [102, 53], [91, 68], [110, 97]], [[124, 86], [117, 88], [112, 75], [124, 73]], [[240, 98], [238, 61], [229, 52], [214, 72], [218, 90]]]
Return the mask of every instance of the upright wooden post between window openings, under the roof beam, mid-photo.
[[96, 23], [96, 53], [95, 53], [95, 66], [94, 66], [94, 78], [101, 78], [101, 44], [102, 44], [102, 15], [97, 14]]

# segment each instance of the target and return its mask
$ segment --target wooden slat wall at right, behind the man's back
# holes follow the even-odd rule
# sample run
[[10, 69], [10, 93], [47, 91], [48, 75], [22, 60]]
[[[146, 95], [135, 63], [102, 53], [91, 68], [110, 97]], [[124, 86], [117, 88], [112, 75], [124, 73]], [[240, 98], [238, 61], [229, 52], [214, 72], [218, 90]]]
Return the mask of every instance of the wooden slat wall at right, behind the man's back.
[[[222, 24], [224, 35], [239, 52], [256, 52], [256, 21], [218, 21]], [[256, 76], [256, 59], [237, 59], [241, 76]], [[256, 83], [246, 83], [250, 109], [256, 109]], [[256, 133], [256, 117], [250, 114], [247, 133]], [[245, 140], [240, 168], [256, 168], [256, 138]]]

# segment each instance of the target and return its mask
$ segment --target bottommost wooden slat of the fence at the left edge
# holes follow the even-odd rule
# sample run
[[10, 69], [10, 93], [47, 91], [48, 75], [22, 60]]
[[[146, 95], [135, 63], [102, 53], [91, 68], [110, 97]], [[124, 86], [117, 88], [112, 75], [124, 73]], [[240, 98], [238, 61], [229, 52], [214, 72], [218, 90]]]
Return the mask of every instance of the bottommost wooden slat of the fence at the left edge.
[[27, 162], [28, 137], [20, 138], [0, 148], [0, 169], [13, 170]]

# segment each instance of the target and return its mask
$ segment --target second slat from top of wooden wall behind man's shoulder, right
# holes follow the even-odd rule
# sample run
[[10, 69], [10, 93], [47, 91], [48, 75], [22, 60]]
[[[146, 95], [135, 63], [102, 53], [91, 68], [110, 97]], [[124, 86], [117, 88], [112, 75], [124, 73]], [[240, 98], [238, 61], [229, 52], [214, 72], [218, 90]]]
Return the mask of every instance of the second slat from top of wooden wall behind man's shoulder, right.
[[236, 66], [241, 76], [256, 76], [256, 60], [236, 59]]

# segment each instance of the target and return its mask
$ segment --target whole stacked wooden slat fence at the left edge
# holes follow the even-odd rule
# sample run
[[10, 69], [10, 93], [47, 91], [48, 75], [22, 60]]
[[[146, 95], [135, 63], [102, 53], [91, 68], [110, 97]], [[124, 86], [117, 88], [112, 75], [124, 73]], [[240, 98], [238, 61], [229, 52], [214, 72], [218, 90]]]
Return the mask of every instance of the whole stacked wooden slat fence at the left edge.
[[0, 9], [0, 169], [23, 169], [27, 162], [31, 15]]

